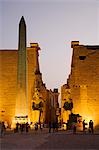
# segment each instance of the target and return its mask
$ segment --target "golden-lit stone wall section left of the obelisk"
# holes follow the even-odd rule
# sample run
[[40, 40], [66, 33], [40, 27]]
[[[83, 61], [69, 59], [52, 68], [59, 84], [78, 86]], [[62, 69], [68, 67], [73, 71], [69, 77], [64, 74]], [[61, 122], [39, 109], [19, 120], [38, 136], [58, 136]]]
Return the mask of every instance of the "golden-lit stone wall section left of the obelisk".
[[0, 120], [12, 120], [15, 114], [17, 51], [0, 51]]

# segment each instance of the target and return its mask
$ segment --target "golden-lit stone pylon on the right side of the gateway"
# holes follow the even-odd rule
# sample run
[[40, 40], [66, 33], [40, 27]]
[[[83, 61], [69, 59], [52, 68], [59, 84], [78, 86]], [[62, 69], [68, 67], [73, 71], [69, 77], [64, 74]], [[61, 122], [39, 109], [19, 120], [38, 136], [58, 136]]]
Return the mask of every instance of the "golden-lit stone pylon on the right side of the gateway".
[[[73, 113], [80, 114], [87, 122], [99, 125], [99, 46], [79, 45], [72, 41], [71, 73], [68, 79]], [[64, 89], [64, 86], [62, 86]], [[65, 88], [66, 90], [66, 88]], [[66, 93], [62, 93], [62, 102]], [[64, 116], [62, 116], [64, 118]]]

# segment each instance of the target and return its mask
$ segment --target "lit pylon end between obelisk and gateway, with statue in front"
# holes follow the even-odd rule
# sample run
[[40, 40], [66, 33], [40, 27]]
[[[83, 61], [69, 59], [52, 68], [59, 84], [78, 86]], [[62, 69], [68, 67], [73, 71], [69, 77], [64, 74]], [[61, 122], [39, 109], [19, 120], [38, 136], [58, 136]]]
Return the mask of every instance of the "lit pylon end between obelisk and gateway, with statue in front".
[[[39, 69], [38, 51], [40, 47], [37, 43], [31, 43], [31, 47], [28, 48], [28, 107], [30, 122], [38, 122], [40, 111], [33, 109], [33, 102], [37, 105], [40, 101], [43, 103], [42, 119], [45, 121], [45, 111], [47, 100], [47, 89], [42, 81], [42, 74]], [[35, 118], [34, 118], [35, 117]]]

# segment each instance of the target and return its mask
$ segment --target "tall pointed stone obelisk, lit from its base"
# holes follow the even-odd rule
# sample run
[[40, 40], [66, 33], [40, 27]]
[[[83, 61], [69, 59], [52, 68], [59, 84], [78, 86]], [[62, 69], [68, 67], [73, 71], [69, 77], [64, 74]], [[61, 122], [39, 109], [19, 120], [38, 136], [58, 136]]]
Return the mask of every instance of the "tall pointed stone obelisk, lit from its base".
[[18, 65], [17, 65], [17, 96], [15, 119], [26, 122], [27, 111], [27, 52], [26, 52], [26, 24], [22, 16], [19, 23]]

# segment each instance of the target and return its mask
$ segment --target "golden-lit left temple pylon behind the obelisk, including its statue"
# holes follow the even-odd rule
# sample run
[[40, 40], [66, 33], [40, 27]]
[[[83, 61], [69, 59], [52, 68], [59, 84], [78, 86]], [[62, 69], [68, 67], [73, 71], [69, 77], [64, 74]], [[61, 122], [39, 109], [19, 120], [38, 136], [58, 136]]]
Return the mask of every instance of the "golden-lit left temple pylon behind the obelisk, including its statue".
[[[50, 112], [53, 109], [49, 103], [51, 97], [54, 100], [54, 111], [58, 106], [58, 91], [50, 91], [42, 81], [42, 74], [39, 69], [38, 43], [31, 43], [27, 47], [27, 81], [28, 81], [28, 122], [45, 122], [50, 119]], [[7, 121], [10, 125], [15, 121], [16, 92], [17, 92], [17, 50], [0, 50], [0, 120]], [[56, 95], [56, 96], [55, 96]], [[33, 109], [35, 104], [43, 103], [41, 114], [40, 110]], [[51, 109], [50, 109], [51, 108]], [[55, 115], [55, 116], [54, 116]], [[56, 117], [56, 113], [53, 114]], [[17, 119], [16, 119], [17, 121]], [[20, 120], [20, 122], [25, 122]]]

